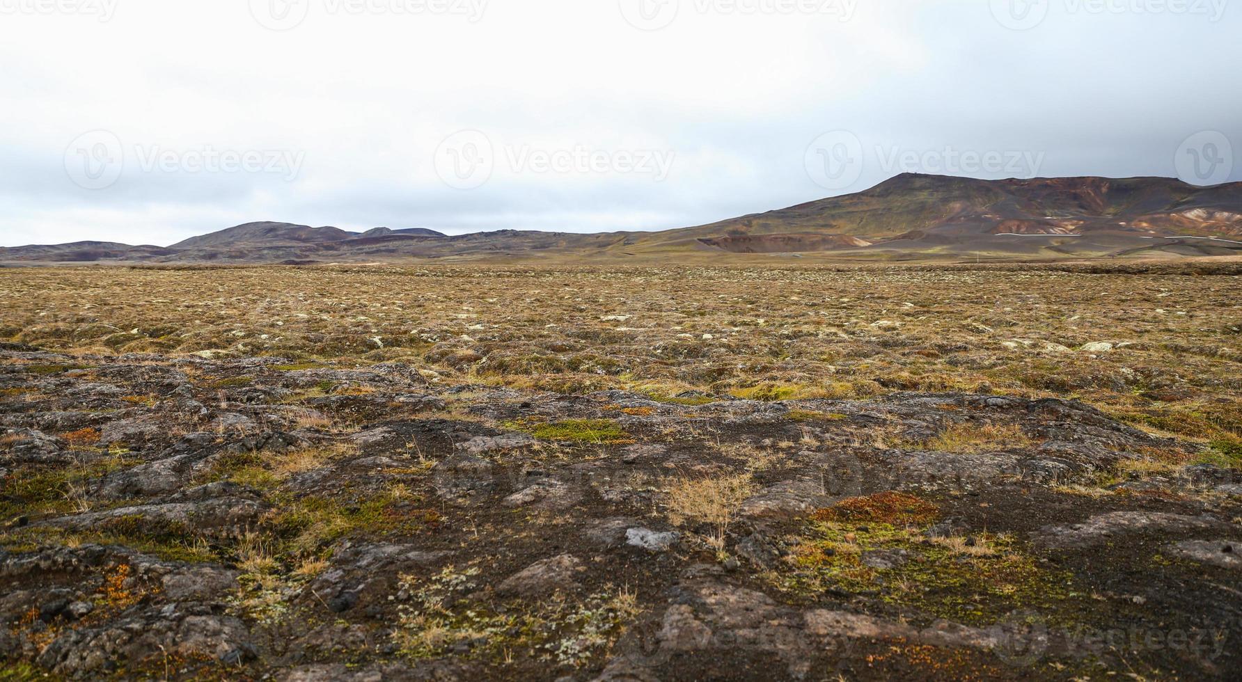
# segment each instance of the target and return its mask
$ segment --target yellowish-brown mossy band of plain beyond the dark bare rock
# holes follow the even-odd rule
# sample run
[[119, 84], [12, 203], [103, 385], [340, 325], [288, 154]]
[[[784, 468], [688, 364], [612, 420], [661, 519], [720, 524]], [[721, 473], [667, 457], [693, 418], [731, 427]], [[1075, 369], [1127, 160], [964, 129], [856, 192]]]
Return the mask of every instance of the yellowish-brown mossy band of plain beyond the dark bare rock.
[[[1236, 378], [1242, 355], [1231, 330], [1237, 325], [1221, 323], [1221, 314], [1237, 309], [1230, 276], [1163, 275], [1141, 265], [633, 268], [620, 277], [591, 268], [484, 266], [250, 267], [232, 268], [227, 278], [211, 270], [148, 268], [125, 272], [144, 296], [118, 298], [107, 272], [6, 272], [12, 340], [75, 353], [294, 359], [274, 371], [342, 359], [402, 360], [445, 384], [473, 378], [564, 393], [632, 389], [679, 405], [728, 394], [759, 400], [984, 388], [1068, 394], [1131, 424], [1205, 443], [1242, 437]], [[359, 277], [368, 281], [365, 291], [355, 286]], [[631, 284], [638, 280], [645, 284], [636, 298]], [[553, 281], [578, 296], [546, 296]], [[465, 291], [463, 282], [468, 311], [441, 296]], [[201, 296], [217, 288], [214, 297]], [[979, 297], [981, 289], [989, 296]], [[1083, 291], [1093, 292], [1086, 307]], [[755, 321], [759, 311], [763, 324]], [[606, 319], [615, 316], [630, 318]], [[101, 323], [142, 333], [127, 333], [116, 348], [96, 343], [93, 333], [76, 334]], [[640, 323], [643, 334], [616, 330]], [[1073, 350], [1102, 337], [1123, 340], [1113, 353]], [[718, 353], [733, 361], [714, 361]], [[31, 366], [47, 376], [87, 369], [86, 363]], [[333, 388], [325, 384], [322, 390]], [[691, 390], [700, 393], [682, 395]]]

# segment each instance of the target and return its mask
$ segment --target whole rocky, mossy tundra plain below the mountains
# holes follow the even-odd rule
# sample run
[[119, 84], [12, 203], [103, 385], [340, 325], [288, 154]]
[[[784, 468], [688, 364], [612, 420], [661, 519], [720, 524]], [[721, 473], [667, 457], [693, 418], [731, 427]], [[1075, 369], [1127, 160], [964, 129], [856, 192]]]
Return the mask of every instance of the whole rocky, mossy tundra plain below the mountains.
[[1242, 263], [0, 268], [0, 680], [1242, 670]]

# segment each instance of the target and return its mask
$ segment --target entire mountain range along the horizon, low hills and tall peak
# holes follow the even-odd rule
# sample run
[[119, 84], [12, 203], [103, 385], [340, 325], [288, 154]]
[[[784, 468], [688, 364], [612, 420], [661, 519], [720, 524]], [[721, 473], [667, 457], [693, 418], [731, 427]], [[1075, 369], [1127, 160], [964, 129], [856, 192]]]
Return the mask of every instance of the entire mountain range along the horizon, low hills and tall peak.
[[976, 180], [903, 174], [843, 196], [696, 227], [566, 234], [427, 229], [350, 232], [248, 222], [169, 247], [76, 242], [0, 248], [0, 262], [312, 263], [1052, 260], [1242, 255], [1242, 183], [1169, 178]]

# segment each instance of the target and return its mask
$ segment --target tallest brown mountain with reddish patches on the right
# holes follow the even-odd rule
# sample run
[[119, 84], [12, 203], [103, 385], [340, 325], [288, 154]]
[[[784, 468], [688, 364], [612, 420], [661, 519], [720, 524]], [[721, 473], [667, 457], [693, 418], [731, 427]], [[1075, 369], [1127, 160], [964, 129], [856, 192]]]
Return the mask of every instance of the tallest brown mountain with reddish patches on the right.
[[1242, 247], [1242, 183], [903, 174], [857, 194], [643, 235], [627, 251], [699, 245], [863, 260], [1228, 255]]

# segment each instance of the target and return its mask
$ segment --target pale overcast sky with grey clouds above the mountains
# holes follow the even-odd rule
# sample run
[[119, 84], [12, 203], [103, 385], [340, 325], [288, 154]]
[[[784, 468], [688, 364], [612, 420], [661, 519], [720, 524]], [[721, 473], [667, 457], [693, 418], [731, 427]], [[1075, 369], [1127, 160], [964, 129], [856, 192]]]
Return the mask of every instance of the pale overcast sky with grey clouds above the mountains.
[[0, 246], [1242, 180], [1240, 36], [1228, 0], [0, 0]]

